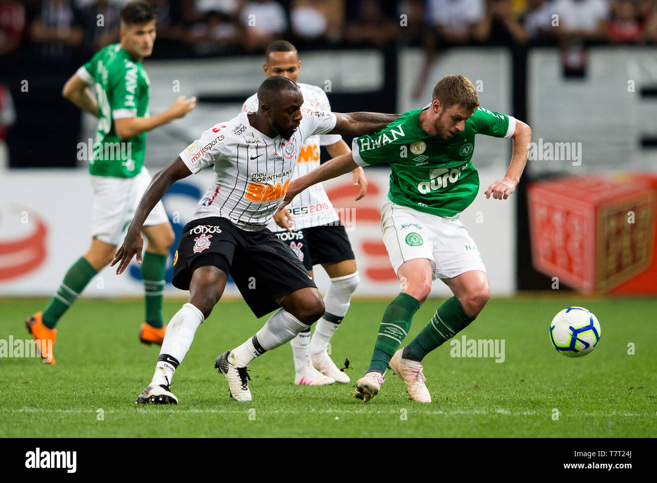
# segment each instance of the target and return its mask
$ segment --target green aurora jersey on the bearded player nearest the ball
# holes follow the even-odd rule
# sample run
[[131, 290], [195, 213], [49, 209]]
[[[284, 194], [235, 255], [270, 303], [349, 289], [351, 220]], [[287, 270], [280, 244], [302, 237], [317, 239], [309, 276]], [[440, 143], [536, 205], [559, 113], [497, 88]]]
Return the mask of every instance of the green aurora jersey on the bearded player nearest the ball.
[[479, 107], [463, 131], [445, 140], [420, 127], [420, 112], [411, 110], [376, 134], [354, 138], [353, 160], [363, 167], [390, 163], [388, 198], [393, 202], [455, 216], [470, 206], [479, 191], [479, 174], [472, 164], [474, 135], [511, 137], [516, 121]]

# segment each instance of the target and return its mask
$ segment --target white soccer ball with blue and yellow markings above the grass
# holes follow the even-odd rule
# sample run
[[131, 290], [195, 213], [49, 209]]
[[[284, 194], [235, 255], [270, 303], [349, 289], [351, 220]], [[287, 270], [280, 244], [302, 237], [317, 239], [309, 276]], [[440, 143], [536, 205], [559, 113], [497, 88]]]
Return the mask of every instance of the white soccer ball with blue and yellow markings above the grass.
[[586, 356], [600, 342], [600, 323], [583, 307], [568, 307], [557, 313], [550, 324], [555, 349], [568, 357]]

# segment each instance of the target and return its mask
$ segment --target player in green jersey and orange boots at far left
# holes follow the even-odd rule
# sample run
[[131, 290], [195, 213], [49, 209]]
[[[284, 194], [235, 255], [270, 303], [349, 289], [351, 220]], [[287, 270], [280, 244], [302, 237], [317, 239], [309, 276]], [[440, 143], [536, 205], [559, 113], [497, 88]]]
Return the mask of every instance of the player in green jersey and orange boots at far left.
[[[55, 363], [52, 348], [57, 321], [75, 302], [87, 283], [107, 265], [129, 225], [141, 195], [150, 183], [143, 168], [146, 133], [185, 116], [196, 98], [179, 97], [171, 107], [148, 116], [150, 81], [141, 61], [152, 53], [156, 15], [148, 3], [132, 1], [121, 10], [121, 42], [108, 45], [64, 85], [62, 95], [81, 110], [98, 118], [89, 172], [94, 198], [91, 216], [91, 246], [66, 272], [55, 296], [26, 325], [35, 340], [41, 340], [41, 356]], [[89, 86], [95, 88], [94, 98]], [[150, 213], [142, 233], [148, 240], [141, 264], [146, 290], [146, 317], [139, 339], [162, 345], [162, 291], [173, 229], [162, 202]], [[47, 341], [51, 341], [48, 343]]]

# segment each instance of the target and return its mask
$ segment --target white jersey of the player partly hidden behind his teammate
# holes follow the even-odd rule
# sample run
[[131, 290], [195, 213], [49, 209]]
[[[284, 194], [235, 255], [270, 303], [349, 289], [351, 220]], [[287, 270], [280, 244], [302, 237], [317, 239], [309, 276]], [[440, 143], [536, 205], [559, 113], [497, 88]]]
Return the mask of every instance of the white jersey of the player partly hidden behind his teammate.
[[[324, 89], [317, 85], [299, 83], [297, 84], [304, 95], [304, 107], [313, 110], [325, 110], [330, 112], [330, 104]], [[242, 112], [256, 112], [258, 110], [258, 95], [254, 94], [244, 102]], [[342, 139], [339, 134], [315, 135], [306, 139], [299, 159], [294, 166], [292, 179], [301, 177], [315, 168], [319, 168], [319, 147], [328, 146], [337, 143]], [[316, 227], [326, 225], [338, 220], [338, 214], [333, 208], [326, 191], [321, 183], [313, 185], [297, 196], [288, 206], [287, 210], [294, 217], [292, 229]], [[271, 231], [282, 231], [273, 220], [269, 223], [268, 228]]]

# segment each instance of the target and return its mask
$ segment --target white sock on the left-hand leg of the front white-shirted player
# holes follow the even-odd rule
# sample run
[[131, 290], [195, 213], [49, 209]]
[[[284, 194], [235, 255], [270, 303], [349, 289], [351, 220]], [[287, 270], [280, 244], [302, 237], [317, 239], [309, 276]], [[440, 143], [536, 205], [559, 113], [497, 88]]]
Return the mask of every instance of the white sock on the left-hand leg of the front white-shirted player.
[[205, 317], [201, 311], [189, 303], [183, 305], [171, 317], [166, 333], [164, 333], [164, 342], [162, 342], [160, 357], [155, 366], [155, 374], [150, 382], [151, 386], [171, 384], [175, 369], [187, 355], [194, 340], [194, 333], [204, 320]]

